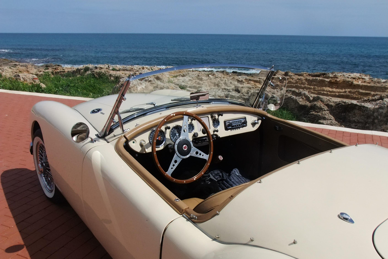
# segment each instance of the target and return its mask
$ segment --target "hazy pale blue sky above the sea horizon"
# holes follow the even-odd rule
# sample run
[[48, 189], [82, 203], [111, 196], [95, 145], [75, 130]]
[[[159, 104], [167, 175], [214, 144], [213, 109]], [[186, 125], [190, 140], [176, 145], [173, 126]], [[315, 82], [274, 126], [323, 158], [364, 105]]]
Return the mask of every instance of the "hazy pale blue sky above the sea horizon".
[[387, 0], [0, 0], [0, 32], [388, 36]]

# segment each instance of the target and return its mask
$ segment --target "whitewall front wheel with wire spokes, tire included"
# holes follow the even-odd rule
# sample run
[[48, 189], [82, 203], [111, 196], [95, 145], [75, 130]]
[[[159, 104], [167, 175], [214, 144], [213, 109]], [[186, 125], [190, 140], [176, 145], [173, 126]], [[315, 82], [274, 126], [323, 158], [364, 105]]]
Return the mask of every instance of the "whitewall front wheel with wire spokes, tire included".
[[54, 203], [62, 202], [64, 198], [62, 193], [57, 189], [51, 174], [50, 164], [47, 160], [46, 149], [40, 129], [34, 133], [32, 154], [34, 156], [36, 174], [44, 195]]

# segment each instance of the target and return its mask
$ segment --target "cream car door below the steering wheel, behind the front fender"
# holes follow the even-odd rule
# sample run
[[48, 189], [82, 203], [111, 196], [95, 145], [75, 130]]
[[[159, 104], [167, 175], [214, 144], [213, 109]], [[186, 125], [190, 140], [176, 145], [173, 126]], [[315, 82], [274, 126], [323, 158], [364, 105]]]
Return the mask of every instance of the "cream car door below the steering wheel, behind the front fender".
[[114, 143], [86, 154], [82, 194], [88, 227], [113, 258], [159, 258], [166, 227], [181, 217], [119, 157]]

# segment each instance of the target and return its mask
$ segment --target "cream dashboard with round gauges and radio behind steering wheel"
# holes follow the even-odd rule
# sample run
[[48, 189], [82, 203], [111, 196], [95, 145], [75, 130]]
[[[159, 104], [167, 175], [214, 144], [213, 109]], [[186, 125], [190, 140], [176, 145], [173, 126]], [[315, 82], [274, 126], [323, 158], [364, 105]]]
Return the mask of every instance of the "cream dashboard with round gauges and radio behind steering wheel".
[[[257, 114], [219, 112], [201, 114], [199, 117], [208, 126], [213, 140], [231, 135], [247, 133], [257, 130], [261, 123], [261, 117]], [[156, 148], [161, 150], [168, 145], [173, 145], [180, 137], [182, 131], [182, 117], [167, 121], [158, 133]], [[155, 135], [156, 126], [128, 141], [129, 147], [138, 153], [151, 152], [151, 143]], [[207, 144], [207, 135], [201, 123], [194, 118], [188, 119], [188, 135], [194, 146]]]

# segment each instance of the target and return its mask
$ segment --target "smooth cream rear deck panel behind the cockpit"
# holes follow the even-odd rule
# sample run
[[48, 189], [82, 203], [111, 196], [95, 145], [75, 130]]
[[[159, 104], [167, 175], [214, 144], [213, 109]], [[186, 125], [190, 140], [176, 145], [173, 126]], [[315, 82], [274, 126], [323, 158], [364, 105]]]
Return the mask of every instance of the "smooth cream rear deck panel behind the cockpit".
[[388, 149], [359, 145], [306, 158], [258, 180], [197, 225], [220, 242], [298, 258], [380, 258], [372, 236], [388, 218], [387, 157]]

